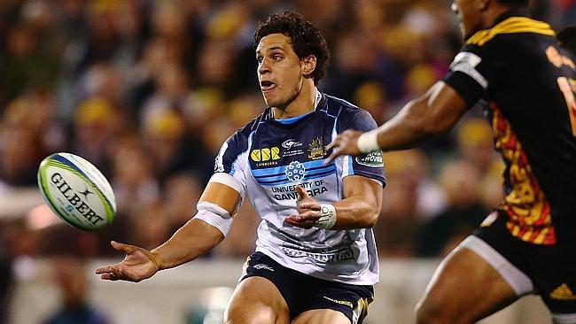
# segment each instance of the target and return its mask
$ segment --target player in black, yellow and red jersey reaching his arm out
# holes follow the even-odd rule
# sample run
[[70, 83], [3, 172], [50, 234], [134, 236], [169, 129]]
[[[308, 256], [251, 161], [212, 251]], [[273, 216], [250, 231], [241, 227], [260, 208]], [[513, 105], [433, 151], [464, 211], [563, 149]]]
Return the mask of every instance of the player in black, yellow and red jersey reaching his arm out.
[[527, 4], [455, 0], [466, 41], [451, 72], [377, 130], [328, 146], [328, 162], [407, 149], [489, 103], [505, 198], [440, 264], [418, 323], [471, 323], [533, 293], [556, 323], [576, 323], [576, 66], [549, 24], [525, 17]]

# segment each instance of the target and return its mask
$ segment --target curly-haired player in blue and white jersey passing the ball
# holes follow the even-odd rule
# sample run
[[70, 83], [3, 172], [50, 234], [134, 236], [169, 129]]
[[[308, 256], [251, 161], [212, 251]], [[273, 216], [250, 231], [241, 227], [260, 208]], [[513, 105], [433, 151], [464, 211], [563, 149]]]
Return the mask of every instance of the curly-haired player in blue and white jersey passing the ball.
[[261, 216], [227, 323], [361, 323], [378, 282], [372, 230], [385, 184], [382, 155], [324, 164], [325, 144], [346, 129], [377, 127], [370, 114], [315, 88], [330, 52], [295, 12], [271, 16], [254, 34], [266, 104], [230, 136], [198, 203], [198, 214], [152, 251], [113, 242], [127, 256], [96, 270], [139, 282], [220, 243], [248, 196]]

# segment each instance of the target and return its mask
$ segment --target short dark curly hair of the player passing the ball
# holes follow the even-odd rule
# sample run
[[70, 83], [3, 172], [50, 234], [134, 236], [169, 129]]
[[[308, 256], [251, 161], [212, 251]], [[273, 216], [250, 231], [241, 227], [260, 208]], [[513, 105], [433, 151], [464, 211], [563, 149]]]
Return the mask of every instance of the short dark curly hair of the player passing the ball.
[[261, 39], [271, 34], [284, 34], [290, 37], [292, 49], [300, 59], [314, 55], [316, 67], [312, 76], [314, 84], [318, 84], [331, 58], [328, 44], [320, 29], [307, 21], [298, 12], [282, 12], [270, 15], [269, 18], [261, 22], [254, 32], [253, 48], [256, 50]]

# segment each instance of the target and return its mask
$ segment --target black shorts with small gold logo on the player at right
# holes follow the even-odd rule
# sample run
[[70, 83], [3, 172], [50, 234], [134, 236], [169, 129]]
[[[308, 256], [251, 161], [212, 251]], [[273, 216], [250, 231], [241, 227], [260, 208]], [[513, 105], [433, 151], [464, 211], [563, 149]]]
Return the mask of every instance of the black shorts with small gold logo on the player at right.
[[[527, 281], [518, 287], [530, 283], [533, 290], [517, 291], [519, 295], [540, 294], [555, 319], [564, 316], [568, 320], [566, 316], [570, 319], [573, 316], [573, 321], [564, 322], [576, 322], [576, 246], [526, 243], [510, 235], [506, 218], [502, 215], [490, 226], [478, 228], [474, 235], [525, 274]], [[517, 277], [522, 275], [518, 273]], [[515, 278], [510, 278], [510, 281], [514, 282]]]

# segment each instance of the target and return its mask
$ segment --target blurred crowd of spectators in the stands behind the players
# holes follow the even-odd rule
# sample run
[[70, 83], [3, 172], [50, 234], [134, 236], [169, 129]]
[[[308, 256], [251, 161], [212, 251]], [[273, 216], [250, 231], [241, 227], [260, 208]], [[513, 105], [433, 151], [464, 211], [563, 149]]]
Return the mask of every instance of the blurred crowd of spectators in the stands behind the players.
[[[46, 207], [0, 220], [0, 264], [63, 252], [110, 256], [110, 239], [152, 248], [189, 220], [222, 142], [264, 108], [253, 31], [270, 13], [296, 10], [315, 22], [333, 57], [319, 89], [381, 124], [448, 71], [462, 43], [449, 5], [0, 1], [0, 195], [35, 187], [40, 161], [67, 151], [96, 165], [118, 202], [113, 225], [98, 233], [58, 220], [31, 227], [30, 218], [54, 218]], [[574, 0], [534, 1], [532, 10], [556, 28], [576, 20]], [[502, 199], [492, 147], [474, 108], [454, 132], [385, 154], [381, 256], [438, 257], [470, 234]], [[258, 221], [245, 205], [211, 257], [249, 254]]]

